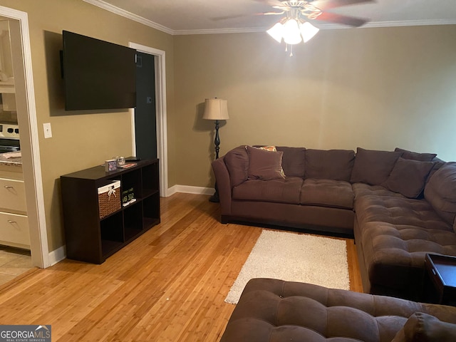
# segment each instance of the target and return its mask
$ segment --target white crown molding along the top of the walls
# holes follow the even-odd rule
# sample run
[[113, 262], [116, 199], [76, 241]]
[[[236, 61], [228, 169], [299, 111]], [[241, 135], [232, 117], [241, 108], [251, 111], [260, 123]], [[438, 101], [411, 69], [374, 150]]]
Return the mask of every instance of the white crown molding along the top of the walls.
[[[199, 30], [172, 30], [166, 26], [155, 23], [148, 19], [138, 16], [138, 14], [133, 14], [124, 9], [120, 9], [117, 6], [108, 4], [103, 0], [83, 0], [88, 4], [98, 6], [101, 9], [110, 11], [119, 16], [123, 16], [127, 19], [137, 21], [140, 24], [150, 26], [168, 33], [172, 36], [185, 36], [190, 34], [223, 34], [223, 33], [258, 33], [264, 32], [269, 27], [246, 27], [246, 28], [209, 28], [209, 29], [199, 29]], [[408, 20], [408, 21], [372, 21], [366, 25], [361, 26], [361, 28], [372, 28], [372, 27], [399, 27], [399, 26], [433, 26], [433, 25], [456, 25], [456, 19], [425, 19], [425, 20]], [[339, 29], [339, 28], [351, 28], [351, 26], [339, 25], [339, 24], [321, 24], [318, 25], [321, 29]]]

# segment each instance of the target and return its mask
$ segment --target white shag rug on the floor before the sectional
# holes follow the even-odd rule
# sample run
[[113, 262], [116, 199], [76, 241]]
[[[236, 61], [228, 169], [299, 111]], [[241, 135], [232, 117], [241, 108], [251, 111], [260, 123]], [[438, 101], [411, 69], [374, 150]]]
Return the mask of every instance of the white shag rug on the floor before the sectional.
[[237, 304], [247, 281], [274, 278], [350, 289], [344, 240], [288, 232], [261, 232], [225, 301]]

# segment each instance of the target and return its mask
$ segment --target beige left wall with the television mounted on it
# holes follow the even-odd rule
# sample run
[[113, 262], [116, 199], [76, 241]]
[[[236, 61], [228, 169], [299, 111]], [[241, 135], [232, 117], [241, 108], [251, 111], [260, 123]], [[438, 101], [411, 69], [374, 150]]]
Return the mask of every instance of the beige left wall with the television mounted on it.
[[[158, 48], [166, 51], [168, 66], [174, 63], [172, 36], [81, 0], [1, 0], [1, 6], [28, 14], [48, 245], [52, 251], [64, 244], [60, 176], [132, 152], [128, 110], [96, 114], [63, 110], [59, 61], [62, 30], [123, 46], [131, 41]], [[172, 67], [167, 69], [166, 81], [167, 108], [172, 113]], [[51, 123], [53, 138], [43, 138], [43, 123]]]

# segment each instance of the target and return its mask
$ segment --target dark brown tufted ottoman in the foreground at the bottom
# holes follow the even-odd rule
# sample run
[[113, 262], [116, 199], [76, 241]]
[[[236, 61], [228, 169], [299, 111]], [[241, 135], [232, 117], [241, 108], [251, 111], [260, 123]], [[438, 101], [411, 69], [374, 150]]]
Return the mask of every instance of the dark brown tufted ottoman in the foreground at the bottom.
[[[454, 323], [456, 307], [252, 279], [220, 341], [446, 342], [456, 341]], [[427, 339], [414, 339], [424, 337], [426, 326], [432, 326]]]

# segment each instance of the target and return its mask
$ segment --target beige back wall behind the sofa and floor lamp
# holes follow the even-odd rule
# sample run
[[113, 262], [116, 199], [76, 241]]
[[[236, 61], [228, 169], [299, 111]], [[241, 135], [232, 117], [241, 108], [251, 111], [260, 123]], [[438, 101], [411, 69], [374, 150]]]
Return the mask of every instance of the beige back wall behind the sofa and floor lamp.
[[213, 186], [209, 97], [228, 100], [221, 155], [398, 146], [456, 160], [455, 41], [456, 26], [322, 30], [289, 57], [265, 33], [176, 36], [177, 182]]

